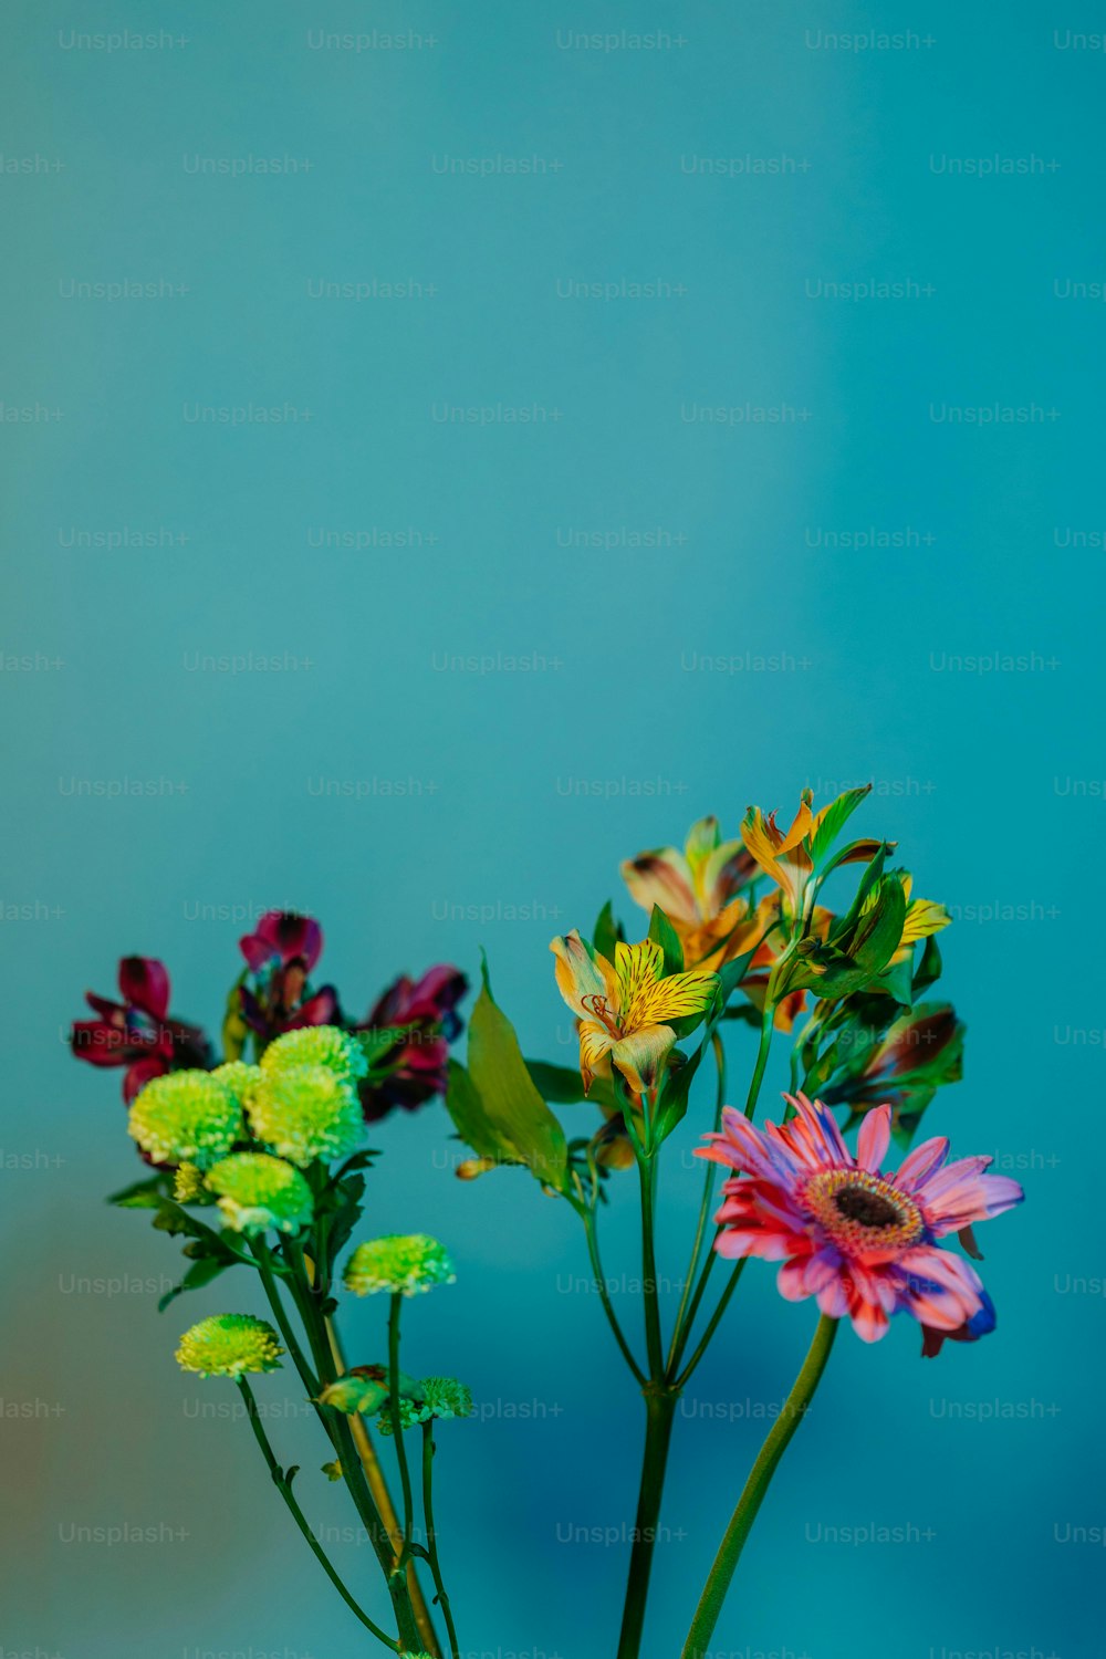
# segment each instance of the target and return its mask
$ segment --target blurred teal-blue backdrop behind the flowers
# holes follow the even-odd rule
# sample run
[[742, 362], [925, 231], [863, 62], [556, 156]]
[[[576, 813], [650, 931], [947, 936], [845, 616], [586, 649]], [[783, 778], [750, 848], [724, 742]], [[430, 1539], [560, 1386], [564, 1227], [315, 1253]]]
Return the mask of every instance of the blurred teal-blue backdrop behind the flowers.
[[[123, 28], [161, 43], [73, 45]], [[373, 28], [423, 43], [310, 45]], [[610, 30], [670, 43], [570, 41]], [[297, 906], [350, 1007], [484, 946], [527, 1050], [567, 1060], [547, 942], [622, 858], [864, 780], [862, 828], [958, 916], [967, 1078], [929, 1121], [1028, 1203], [983, 1238], [993, 1339], [922, 1364], [904, 1321], [842, 1334], [716, 1652], [1101, 1652], [1106, 314], [1066, 295], [1106, 277], [1106, 56], [1079, 30], [1081, 0], [8, 7], [5, 1654], [365, 1651], [221, 1385], [171, 1357], [250, 1287], [159, 1317], [176, 1246], [101, 1203], [134, 1160], [119, 1073], [65, 1048], [81, 990], [159, 956], [174, 1012], [214, 1029], [245, 921]], [[995, 154], [1026, 171], [942, 159]], [[857, 280], [919, 292], [817, 297]], [[159, 297], [76, 297], [113, 282]], [[358, 282], [421, 294], [312, 297]], [[249, 405], [295, 420], [196, 418]], [[784, 418], [695, 418], [746, 405]], [[1038, 413], [940, 418], [995, 405]], [[673, 1279], [700, 1126], [665, 1178]], [[464, 1652], [602, 1659], [625, 1546], [587, 1538], [628, 1523], [640, 1405], [579, 1229], [521, 1173], [454, 1181], [438, 1105], [375, 1140], [371, 1231], [458, 1259], [410, 1312], [411, 1369], [486, 1413], [441, 1435]], [[609, 1272], [635, 1274], [625, 1185], [605, 1224]], [[809, 1329], [753, 1267], [678, 1422], [648, 1659], [678, 1651]], [[371, 1304], [348, 1331], [378, 1354]], [[295, 1389], [264, 1397], [310, 1518], [345, 1525]], [[866, 1525], [904, 1541], [826, 1541]], [[86, 1531], [113, 1526], [156, 1541]], [[368, 1550], [337, 1554], [376, 1594]]]

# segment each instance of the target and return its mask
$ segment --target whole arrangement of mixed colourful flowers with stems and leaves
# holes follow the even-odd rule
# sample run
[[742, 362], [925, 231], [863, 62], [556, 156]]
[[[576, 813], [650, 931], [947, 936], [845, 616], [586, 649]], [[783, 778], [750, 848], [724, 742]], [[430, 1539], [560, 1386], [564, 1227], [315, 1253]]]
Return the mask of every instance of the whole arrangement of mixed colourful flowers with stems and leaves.
[[[187, 1267], [161, 1306], [244, 1269], [270, 1311], [201, 1319], [179, 1339], [177, 1362], [239, 1389], [307, 1546], [350, 1616], [391, 1652], [463, 1654], [464, 1608], [454, 1609], [446, 1589], [433, 1490], [438, 1425], [468, 1417], [473, 1397], [453, 1377], [415, 1379], [401, 1365], [405, 1301], [453, 1282], [451, 1254], [424, 1233], [361, 1236], [378, 1156], [365, 1145], [366, 1125], [388, 1112], [443, 1097], [468, 1148], [456, 1170], [463, 1180], [527, 1171], [582, 1229], [645, 1418], [617, 1659], [642, 1652], [677, 1402], [749, 1258], [778, 1262], [781, 1296], [813, 1301], [817, 1322], [735, 1495], [706, 1581], [686, 1586], [683, 1659], [711, 1652], [741, 1550], [839, 1327], [871, 1344], [887, 1335], [892, 1316], [907, 1314], [927, 1357], [945, 1340], [975, 1342], [995, 1329], [972, 1266], [973, 1226], [1023, 1194], [987, 1173], [987, 1156], [950, 1161], [943, 1136], [910, 1150], [937, 1090], [960, 1077], [963, 1025], [948, 1004], [930, 1000], [947, 912], [914, 898], [907, 871], [889, 868], [894, 843], [846, 838], [867, 793], [849, 790], [814, 811], [808, 791], [786, 831], [751, 808], [731, 841], [703, 818], [683, 849], [627, 859], [622, 874], [648, 914], [647, 936], [628, 942], [605, 904], [590, 939], [574, 929], [552, 941], [579, 1068], [524, 1058], [486, 962], [464, 1063], [449, 1052], [468, 989], [454, 967], [398, 979], [363, 1020], [347, 1017], [335, 987], [310, 982], [318, 924], [285, 912], [264, 916], [240, 941], [245, 967], [227, 999], [221, 1055], [196, 1025], [171, 1017], [161, 962], [124, 957], [121, 1002], [90, 995], [96, 1017], [73, 1027], [73, 1050], [126, 1067], [129, 1133], [148, 1165], [113, 1203], [149, 1209], [156, 1228], [184, 1241]], [[849, 874], [852, 891], [829, 909], [827, 888]], [[741, 1042], [751, 1048], [749, 1080], [731, 1097], [728, 1068]], [[774, 1044], [788, 1048], [789, 1090], [779, 1121], [756, 1126]], [[554, 1107], [584, 1100], [597, 1120], [570, 1136]], [[675, 1309], [660, 1294], [655, 1244], [672, 1140], [696, 1143], [703, 1160]], [[600, 1221], [623, 1181], [640, 1204], [640, 1329], [615, 1312], [600, 1251]], [[948, 1248], [953, 1238], [962, 1253]], [[347, 1362], [343, 1291], [385, 1297], [386, 1331], [370, 1362]], [[373, 1594], [338, 1574], [297, 1496], [297, 1478], [308, 1477], [282, 1465], [269, 1440], [250, 1379], [285, 1360], [327, 1453], [315, 1478], [345, 1483], [371, 1541]]]

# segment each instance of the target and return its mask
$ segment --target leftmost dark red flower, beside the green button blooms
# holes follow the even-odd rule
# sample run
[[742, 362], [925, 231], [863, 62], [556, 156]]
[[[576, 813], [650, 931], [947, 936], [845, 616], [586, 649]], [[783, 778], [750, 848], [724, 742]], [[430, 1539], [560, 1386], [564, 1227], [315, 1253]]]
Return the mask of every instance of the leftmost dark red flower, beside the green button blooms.
[[214, 1065], [211, 1045], [199, 1025], [169, 1019], [169, 974], [151, 956], [119, 961], [123, 1002], [108, 1002], [91, 990], [85, 1000], [98, 1015], [75, 1020], [70, 1044], [90, 1065], [126, 1067], [123, 1098], [129, 1105], [151, 1077]]

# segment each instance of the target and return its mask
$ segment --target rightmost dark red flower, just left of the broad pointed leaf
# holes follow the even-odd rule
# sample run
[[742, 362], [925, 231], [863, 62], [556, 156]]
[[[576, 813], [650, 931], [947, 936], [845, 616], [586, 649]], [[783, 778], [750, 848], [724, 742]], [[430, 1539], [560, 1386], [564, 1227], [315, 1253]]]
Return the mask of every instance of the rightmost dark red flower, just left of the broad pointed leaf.
[[461, 1035], [456, 1005], [469, 989], [464, 974], [439, 964], [420, 980], [401, 974], [357, 1030], [396, 1029], [391, 1048], [381, 1048], [373, 1068], [360, 1085], [361, 1108], [368, 1123], [386, 1117], [395, 1107], [416, 1107], [444, 1095], [449, 1044]]

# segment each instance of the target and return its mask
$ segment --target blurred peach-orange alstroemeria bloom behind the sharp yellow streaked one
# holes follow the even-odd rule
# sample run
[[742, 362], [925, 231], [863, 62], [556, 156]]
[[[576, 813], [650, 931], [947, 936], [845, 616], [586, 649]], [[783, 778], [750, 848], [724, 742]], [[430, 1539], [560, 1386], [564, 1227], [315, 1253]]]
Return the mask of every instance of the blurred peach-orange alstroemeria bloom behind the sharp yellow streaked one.
[[683, 946], [683, 961], [703, 972], [751, 951], [764, 919], [740, 898], [754, 874], [741, 841], [723, 841], [716, 818], [693, 823], [683, 851], [658, 846], [622, 864], [630, 898], [652, 914], [662, 907]]

